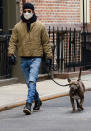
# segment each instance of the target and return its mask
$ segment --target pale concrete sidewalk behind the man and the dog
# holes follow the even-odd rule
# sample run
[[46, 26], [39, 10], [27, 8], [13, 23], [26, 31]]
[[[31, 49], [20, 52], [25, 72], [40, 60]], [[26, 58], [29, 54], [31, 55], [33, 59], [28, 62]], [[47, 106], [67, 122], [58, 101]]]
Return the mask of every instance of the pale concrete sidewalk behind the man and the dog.
[[[83, 75], [81, 79], [85, 84], [86, 90], [91, 90], [91, 74]], [[66, 79], [56, 78], [55, 81], [63, 85], [68, 84]], [[68, 95], [69, 87], [61, 87], [52, 80], [44, 80], [37, 82], [37, 90], [40, 94], [40, 98], [45, 101]], [[17, 83], [0, 87], [0, 111], [24, 105], [26, 96], [26, 84]]]

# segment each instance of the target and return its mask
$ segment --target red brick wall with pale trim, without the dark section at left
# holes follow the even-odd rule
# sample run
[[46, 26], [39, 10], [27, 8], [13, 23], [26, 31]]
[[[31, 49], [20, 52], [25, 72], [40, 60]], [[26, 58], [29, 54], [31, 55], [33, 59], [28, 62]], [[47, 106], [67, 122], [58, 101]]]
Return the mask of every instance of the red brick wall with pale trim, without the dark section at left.
[[79, 28], [91, 22], [91, 0], [21, 0], [21, 7], [25, 1], [35, 5], [38, 19], [46, 25]]

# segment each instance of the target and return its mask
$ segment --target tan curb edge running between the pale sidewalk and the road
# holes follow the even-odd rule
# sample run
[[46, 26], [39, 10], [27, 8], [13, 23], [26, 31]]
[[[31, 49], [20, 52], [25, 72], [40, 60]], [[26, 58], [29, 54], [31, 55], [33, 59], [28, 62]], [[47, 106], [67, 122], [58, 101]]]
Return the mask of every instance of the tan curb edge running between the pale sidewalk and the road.
[[[87, 88], [86, 91], [91, 91], [91, 88]], [[40, 97], [40, 98], [41, 98], [42, 101], [47, 101], [47, 100], [51, 100], [51, 99], [55, 99], [55, 98], [59, 98], [59, 97], [64, 97], [64, 96], [69, 96], [69, 93], [55, 94], [55, 95], [44, 96], [44, 97]], [[25, 105], [25, 103], [26, 103], [26, 101], [22, 101], [22, 102], [17, 102], [15, 104], [1, 106], [0, 112]]]

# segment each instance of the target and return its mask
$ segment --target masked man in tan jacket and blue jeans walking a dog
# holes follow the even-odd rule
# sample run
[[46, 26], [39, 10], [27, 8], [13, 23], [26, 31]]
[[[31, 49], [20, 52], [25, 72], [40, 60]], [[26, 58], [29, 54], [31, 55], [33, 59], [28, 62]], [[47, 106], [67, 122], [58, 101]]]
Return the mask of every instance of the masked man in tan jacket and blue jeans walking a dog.
[[9, 57], [14, 56], [16, 48], [21, 58], [21, 69], [28, 87], [28, 95], [23, 112], [31, 114], [33, 101], [35, 102], [33, 111], [38, 111], [42, 105], [36, 90], [36, 82], [43, 52], [46, 55], [47, 64], [51, 65], [52, 59], [47, 30], [41, 22], [37, 21], [34, 5], [31, 3], [24, 4], [21, 20], [13, 28], [8, 47]]

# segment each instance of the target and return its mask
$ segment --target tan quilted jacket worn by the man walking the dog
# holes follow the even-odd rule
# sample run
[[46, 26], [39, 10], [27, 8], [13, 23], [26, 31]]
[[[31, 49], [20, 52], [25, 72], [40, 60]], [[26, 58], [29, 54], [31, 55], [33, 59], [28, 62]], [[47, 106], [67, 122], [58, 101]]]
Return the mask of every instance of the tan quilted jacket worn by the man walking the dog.
[[18, 49], [18, 55], [21, 57], [41, 57], [43, 52], [47, 58], [52, 57], [47, 30], [39, 21], [31, 24], [30, 32], [27, 32], [27, 25], [22, 21], [14, 26], [8, 54], [14, 54], [16, 48]]

